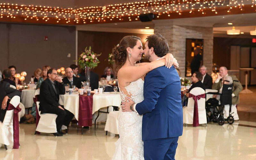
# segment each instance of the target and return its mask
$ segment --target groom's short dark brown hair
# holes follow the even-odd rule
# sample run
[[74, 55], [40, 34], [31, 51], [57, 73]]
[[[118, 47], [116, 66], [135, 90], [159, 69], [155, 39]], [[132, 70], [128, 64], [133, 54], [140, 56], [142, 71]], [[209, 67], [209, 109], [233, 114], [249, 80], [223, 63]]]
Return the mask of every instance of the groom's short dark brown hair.
[[153, 47], [157, 57], [163, 57], [169, 52], [168, 41], [162, 35], [150, 35], [146, 40], [148, 41], [148, 48]]

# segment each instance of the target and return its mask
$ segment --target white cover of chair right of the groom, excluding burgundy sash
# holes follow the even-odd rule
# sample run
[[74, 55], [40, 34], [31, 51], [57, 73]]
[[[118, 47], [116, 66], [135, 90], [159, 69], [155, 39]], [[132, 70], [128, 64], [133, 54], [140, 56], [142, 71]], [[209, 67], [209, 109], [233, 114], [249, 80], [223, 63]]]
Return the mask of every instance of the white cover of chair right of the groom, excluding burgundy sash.
[[[194, 96], [200, 96], [205, 94], [204, 89], [200, 87], [193, 88], [189, 94]], [[193, 124], [193, 118], [194, 118], [194, 105], [195, 100], [193, 97], [188, 98], [188, 105], [187, 107], [183, 108], [183, 123], [184, 124]], [[205, 98], [197, 99], [197, 106], [198, 106], [198, 121], [199, 124], [206, 124], [207, 125], [207, 119], [206, 119], [206, 110], [205, 110]]]

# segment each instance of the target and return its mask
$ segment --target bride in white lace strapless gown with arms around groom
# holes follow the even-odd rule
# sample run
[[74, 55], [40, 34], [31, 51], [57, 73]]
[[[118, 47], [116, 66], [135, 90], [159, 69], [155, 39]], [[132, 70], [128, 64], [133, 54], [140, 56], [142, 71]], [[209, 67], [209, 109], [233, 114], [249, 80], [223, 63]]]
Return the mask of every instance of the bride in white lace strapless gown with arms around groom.
[[[118, 77], [118, 87], [122, 102], [126, 97], [135, 103], [144, 100], [143, 84], [144, 76], [151, 70], [172, 64], [178, 67], [177, 60], [172, 54], [151, 63], [139, 63], [143, 54], [141, 39], [136, 36], [125, 36], [120, 43], [113, 48], [113, 60]], [[116, 141], [116, 152], [112, 160], [144, 160], [143, 141], [141, 138], [142, 116], [136, 112], [119, 112], [119, 135]]]

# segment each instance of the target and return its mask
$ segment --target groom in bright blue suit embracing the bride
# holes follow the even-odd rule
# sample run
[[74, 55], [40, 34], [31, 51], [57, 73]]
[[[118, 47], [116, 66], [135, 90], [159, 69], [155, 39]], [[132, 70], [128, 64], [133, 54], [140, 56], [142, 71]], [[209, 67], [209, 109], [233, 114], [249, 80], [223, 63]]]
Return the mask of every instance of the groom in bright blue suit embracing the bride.
[[[155, 61], [169, 52], [167, 40], [159, 35], [147, 37], [145, 59]], [[180, 77], [176, 69], [165, 66], [148, 72], [144, 81], [144, 100], [122, 103], [124, 112], [143, 115], [142, 140], [145, 160], [174, 160], [183, 118]]]

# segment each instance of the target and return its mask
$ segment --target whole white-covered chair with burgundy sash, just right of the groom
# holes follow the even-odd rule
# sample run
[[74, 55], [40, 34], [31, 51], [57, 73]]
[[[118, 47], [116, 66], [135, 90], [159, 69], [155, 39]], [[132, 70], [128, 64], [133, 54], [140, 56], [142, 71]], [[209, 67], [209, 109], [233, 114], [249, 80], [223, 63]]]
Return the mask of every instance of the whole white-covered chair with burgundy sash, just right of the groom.
[[204, 89], [195, 87], [189, 92], [188, 105], [183, 108], [183, 123], [194, 127], [207, 125]]

